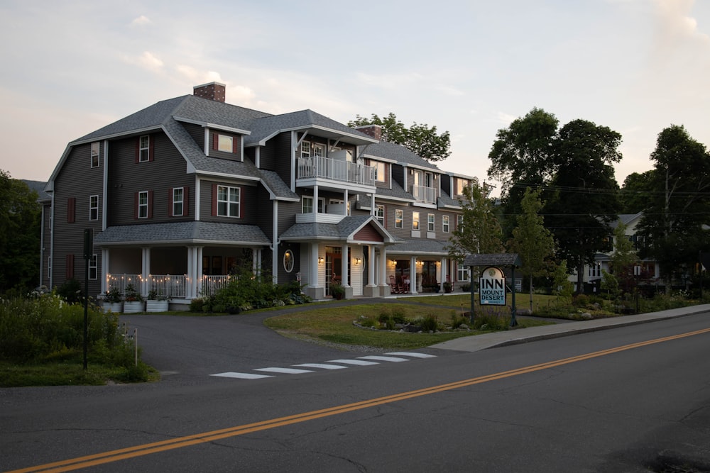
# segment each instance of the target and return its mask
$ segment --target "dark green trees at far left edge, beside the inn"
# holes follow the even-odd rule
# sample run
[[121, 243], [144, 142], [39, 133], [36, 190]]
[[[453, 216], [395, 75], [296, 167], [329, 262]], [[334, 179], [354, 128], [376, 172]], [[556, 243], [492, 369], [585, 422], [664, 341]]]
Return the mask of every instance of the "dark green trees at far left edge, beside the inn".
[[42, 211], [37, 197], [0, 169], [0, 293], [38, 284]]

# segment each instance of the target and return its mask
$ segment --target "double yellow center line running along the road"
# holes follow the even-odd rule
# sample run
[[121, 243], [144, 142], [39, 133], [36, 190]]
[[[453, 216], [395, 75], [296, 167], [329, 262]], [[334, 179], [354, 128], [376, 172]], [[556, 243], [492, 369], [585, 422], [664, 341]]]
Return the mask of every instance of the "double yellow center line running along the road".
[[405, 399], [412, 399], [419, 396], [428, 396], [430, 394], [436, 394], [442, 391], [449, 391], [451, 389], [463, 388], [466, 386], [472, 386], [474, 384], [481, 384], [490, 381], [495, 381], [496, 379], [504, 379], [513, 376], [518, 376], [520, 374], [532, 373], [536, 371], [541, 371], [542, 369], [550, 369], [554, 367], [559, 367], [562, 365], [569, 365], [570, 363], [581, 362], [584, 360], [590, 360], [591, 358], [603, 357], [606, 355], [611, 355], [613, 353], [623, 352], [626, 350], [633, 350], [634, 348], [645, 347], [648, 345], [653, 345], [655, 343], [667, 342], [670, 340], [677, 340], [679, 338], [692, 337], [693, 335], [700, 335], [702, 333], [709, 333], [710, 328], [705, 328], [703, 330], [696, 330], [694, 332], [681, 333], [679, 335], [671, 335], [664, 338], [656, 338], [654, 340], [647, 340], [644, 342], [631, 343], [630, 345], [623, 345], [621, 347], [609, 348], [608, 350], [600, 350], [598, 352], [586, 353], [584, 355], [578, 355], [576, 357], [564, 358], [562, 360], [555, 360], [546, 363], [540, 363], [539, 365], [531, 365], [528, 367], [522, 367], [518, 369], [510, 369], [509, 371], [486, 374], [485, 376], [464, 379], [462, 381], [457, 381], [447, 384], [439, 384], [438, 386], [430, 386], [424, 389], [416, 389], [415, 391], [407, 391], [399, 394], [392, 394], [391, 396], [383, 396], [375, 399], [368, 399], [366, 401], [359, 401], [352, 404], [343, 404], [342, 406], [334, 406], [325, 409], [320, 409], [318, 411], [310, 411], [300, 414], [295, 414], [293, 416], [285, 416], [280, 418], [271, 419], [268, 421], [261, 421], [255, 423], [249, 423], [245, 425], [237, 425], [236, 427], [224, 428], [220, 430], [212, 430], [211, 432], [198, 433], [195, 435], [186, 435], [185, 437], [173, 438], [170, 440], [161, 440], [160, 442], [146, 443], [143, 445], [136, 445], [135, 447], [121, 448], [119, 450], [111, 450], [110, 452], [97, 453], [95, 455], [87, 455], [85, 457], [72, 458], [70, 460], [62, 460], [60, 462], [53, 462], [47, 464], [41, 464], [35, 467], [28, 467], [23, 469], [16, 469], [8, 473], [21, 473], [21, 472], [44, 472], [44, 473], [58, 473], [58, 472], [69, 472], [75, 469], [93, 467], [99, 464], [116, 462], [119, 460], [126, 460], [128, 458], [140, 457], [142, 455], [150, 455], [151, 453], [165, 452], [166, 450], [173, 450], [175, 448], [188, 447], [190, 445], [196, 445], [199, 443], [214, 442], [214, 440], [220, 440], [223, 438], [234, 437], [236, 435], [244, 435], [246, 433], [258, 432], [259, 430], [268, 430], [271, 428], [283, 427], [284, 425], [291, 425], [295, 423], [312, 421], [317, 418], [336, 416], [337, 414], [342, 414], [351, 411], [358, 411], [364, 408], [370, 408], [374, 406], [380, 406], [381, 404], [388, 404], [397, 401], [404, 401]]

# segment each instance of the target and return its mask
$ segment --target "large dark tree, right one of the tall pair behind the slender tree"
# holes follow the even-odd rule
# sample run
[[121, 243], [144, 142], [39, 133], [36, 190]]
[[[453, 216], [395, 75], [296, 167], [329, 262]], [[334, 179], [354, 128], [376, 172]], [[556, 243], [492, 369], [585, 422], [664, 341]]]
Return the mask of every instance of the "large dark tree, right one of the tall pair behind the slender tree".
[[596, 252], [611, 249], [611, 223], [618, 219], [618, 184], [613, 163], [621, 160], [621, 135], [591, 121], [574, 120], [559, 130], [554, 161], [557, 172], [545, 206], [545, 222], [559, 256], [577, 271], [584, 292], [584, 265]]

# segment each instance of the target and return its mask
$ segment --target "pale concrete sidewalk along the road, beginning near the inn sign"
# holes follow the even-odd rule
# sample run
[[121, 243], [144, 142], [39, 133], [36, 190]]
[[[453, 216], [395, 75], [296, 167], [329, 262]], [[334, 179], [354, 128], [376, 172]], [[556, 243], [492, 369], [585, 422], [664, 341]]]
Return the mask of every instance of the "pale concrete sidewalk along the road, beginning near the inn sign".
[[640, 313], [635, 316], [621, 316], [615, 318], [598, 318], [593, 321], [579, 321], [569, 323], [557, 323], [555, 325], [542, 325], [540, 327], [529, 327], [522, 329], [506, 330], [505, 332], [486, 333], [484, 335], [474, 335], [471, 337], [455, 338], [444, 343], [431, 345], [430, 348], [441, 348], [442, 350], [458, 350], [461, 352], [477, 352], [486, 348], [502, 347], [505, 345], [515, 345], [527, 343], [546, 338], [566, 337], [577, 333], [594, 332], [596, 330], [606, 330], [608, 328], [625, 327], [627, 325], [637, 325], [663, 321], [669, 318], [692, 316], [697, 313], [710, 311], [710, 304], [702, 306], [690, 306], [673, 308], [667, 311]]

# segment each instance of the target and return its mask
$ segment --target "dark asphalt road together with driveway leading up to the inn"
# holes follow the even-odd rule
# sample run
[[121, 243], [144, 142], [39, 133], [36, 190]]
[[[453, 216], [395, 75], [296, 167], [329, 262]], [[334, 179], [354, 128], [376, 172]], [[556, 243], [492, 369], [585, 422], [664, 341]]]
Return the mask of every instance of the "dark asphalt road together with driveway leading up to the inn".
[[[157, 347], [156, 340], [175, 334], [158, 335], [155, 317], [131, 316], [131, 323]], [[159, 362], [192, 359], [168, 366], [182, 370], [175, 381], [0, 390], [0, 470], [79, 457], [79, 467], [107, 462], [89, 467], [102, 472], [710, 469], [706, 313], [666, 313], [657, 317], [665, 320], [615, 330], [564, 324], [568, 333], [585, 331], [528, 332], [535, 343], [521, 343], [530, 329], [510, 330], [509, 340], [489, 340], [507, 346], [430, 348], [436, 357], [266, 379], [207, 376], [226, 367], [220, 360], [202, 372], [198, 360], [214, 356], [252, 367], [263, 362], [235, 346], [263, 350], [270, 364], [344, 357], [268, 338], [258, 317], [240, 317], [237, 325], [200, 319], [202, 328], [214, 321], [220, 329], [207, 330], [217, 348], [163, 345]], [[180, 319], [162, 321], [188, 332], [197, 326]], [[284, 348], [258, 347], [264, 340]], [[671, 461], [685, 469], [649, 466]]]

